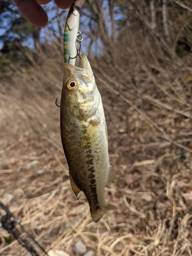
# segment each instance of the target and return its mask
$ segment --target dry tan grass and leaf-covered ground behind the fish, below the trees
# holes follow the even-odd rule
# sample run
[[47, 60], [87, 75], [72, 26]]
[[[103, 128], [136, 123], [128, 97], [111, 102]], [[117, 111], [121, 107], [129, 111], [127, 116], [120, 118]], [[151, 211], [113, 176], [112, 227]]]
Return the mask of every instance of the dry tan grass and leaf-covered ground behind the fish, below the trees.
[[[61, 63], [59, 54], [56, 57]], [[74, 255], [72, 246], [81, 238], [98, 256], [191, 255], [190, 102], [182, 109], [174, 101], [170, 109], [166, 90], [161, 102], [154, 101], [152, 90], [147, 93], [152, 78], [139, 78], [141, 70], [135, 72], [144, 81], [139, 82], [145, 99], [140, 97], [143, 91], [134, 96], [121, 91], [122, 81], [117, 91], [110, 76], [95, 68], [117, 173], [105, 197], [117, 210], [94, 223], [86, 198], [80, 193], [76, 199], [69, 182], [55, 106], [63, 72], [54, 59], [45, 57], [43, 66], [1, 82], [0, 198], [46, 250]], [[159, 74], [153, 80], [162, 86]], [[167, 104], [163, 108], [162, 102]], [[32, 161], [38, 162], [30, 165]], [[41, 176], [39, 169], [44, 170]], [[1, 255], [25, 254], [13, 238], [8, 243], [6, 231], [0, 229], [0, 238]]]

